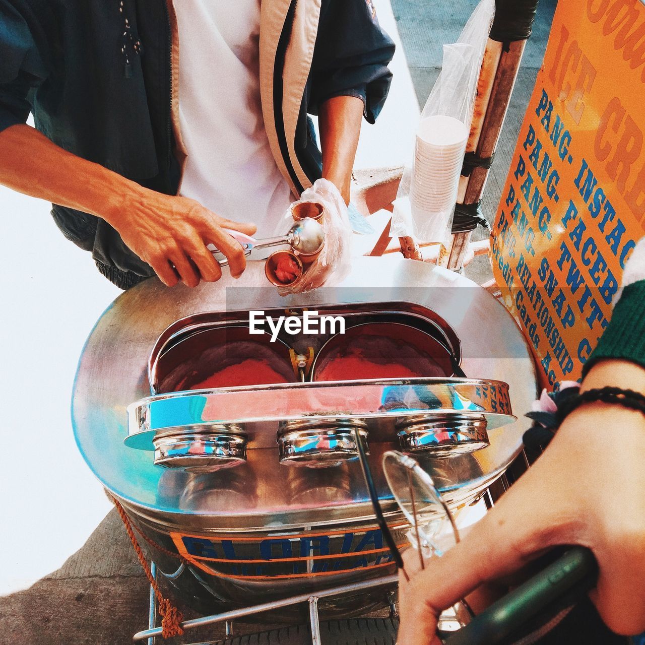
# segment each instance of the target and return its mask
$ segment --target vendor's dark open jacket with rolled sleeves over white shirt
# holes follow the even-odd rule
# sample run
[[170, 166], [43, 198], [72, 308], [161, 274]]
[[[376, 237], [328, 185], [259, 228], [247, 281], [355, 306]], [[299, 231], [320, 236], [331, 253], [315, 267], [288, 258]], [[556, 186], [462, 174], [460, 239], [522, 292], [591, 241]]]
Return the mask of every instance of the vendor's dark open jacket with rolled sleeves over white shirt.
[[[290, 25], [288, 15], [275, 59], [276, 106]], [[171, 45], [164, 0], [0, 0], [0, 131], [25, 123], [32, 112], [36, 128], [61, 148], [146, 188], [176, 194]], [[390, 85], [393, 50], [371, 3], [322, 1], [295, 141], [281, 141], [285, 157], [288, 145], [295, 146], [310, 181], [321, 174], [321, 155], [307, 112], [317, 114], [335, 95], [356, 95], [373, 122]], [[279, 135], [280, 119], [276, 109]], [[153, 275], [104, 220], [55, 204], [52, 215], [65, 237], [92, 252], [99, 270], [121, 288]]]

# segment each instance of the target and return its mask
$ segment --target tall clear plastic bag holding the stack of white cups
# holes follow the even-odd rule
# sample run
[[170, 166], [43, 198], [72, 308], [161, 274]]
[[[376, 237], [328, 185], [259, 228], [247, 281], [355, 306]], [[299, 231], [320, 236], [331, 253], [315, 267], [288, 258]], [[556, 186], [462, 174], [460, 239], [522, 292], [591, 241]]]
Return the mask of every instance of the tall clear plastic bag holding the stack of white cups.
[[441, 74], [421, 112], [412, 161], [394, 201], [390, 234], [421, 242], [450, 238], [459, 177], [494, 0], [481, 0], [456, 43], [444, 45]]

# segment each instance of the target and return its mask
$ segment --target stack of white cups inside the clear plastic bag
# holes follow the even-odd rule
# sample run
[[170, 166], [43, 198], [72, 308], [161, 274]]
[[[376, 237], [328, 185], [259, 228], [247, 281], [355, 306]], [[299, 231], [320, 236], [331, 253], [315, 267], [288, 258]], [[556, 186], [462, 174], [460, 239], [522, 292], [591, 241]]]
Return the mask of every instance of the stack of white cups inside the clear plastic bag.
[[457, 199], [459, 176], [468, 141], [468, 128], [454, 117], [426, 117], [419, 125], [410, 206], [415, 235], [439, 241], [448, 226]]

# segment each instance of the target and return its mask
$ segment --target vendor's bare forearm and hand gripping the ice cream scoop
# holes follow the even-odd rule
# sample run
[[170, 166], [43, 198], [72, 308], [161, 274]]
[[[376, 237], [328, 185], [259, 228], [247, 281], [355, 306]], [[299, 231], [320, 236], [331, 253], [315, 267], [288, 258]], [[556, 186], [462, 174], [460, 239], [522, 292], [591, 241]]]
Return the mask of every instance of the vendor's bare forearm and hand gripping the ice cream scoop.
[[66, 152], [29, 126], [0, 132], [0, 184], [103, 218], [168, 286], [179, 277], [188, 286], [221, 277], [210, 243], [228, 259], [231, 275], [246, 267], [241, 244], [224, 229], [252, 235], [253, 224], [219, 217], [188, 197], [143, 188]]

